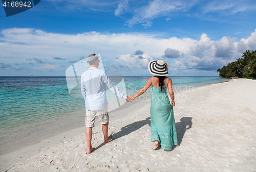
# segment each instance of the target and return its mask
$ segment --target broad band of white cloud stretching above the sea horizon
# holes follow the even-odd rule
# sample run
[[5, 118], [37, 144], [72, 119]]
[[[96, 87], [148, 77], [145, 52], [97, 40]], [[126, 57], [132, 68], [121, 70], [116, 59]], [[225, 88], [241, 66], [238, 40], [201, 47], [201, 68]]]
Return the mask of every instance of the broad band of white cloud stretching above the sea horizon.
[[[217, 68], [241, 57], [245, 50], [256, 50], [256, 30], [239, 42], [226, 36], [214, 41], [206, 34], [202, 34], [199, 41], [177, 37], [165, 39], [139, 33], [67, 35], [27, 28], [6, 29], [1, 34], [1, 71], [29, 68], [29, 72], [34, 69], [62, 72], [63, 67], [60, 66], [69, 66], [69, 61], [79, 61], [96, 53], [101, 55], [103, 64], [108, 64], [105, 69], [125, 71], [125, 76], [134, 70], [139, 72], [133, 75], [147, 73], [147, 63], [160, 57], [169, 61], [169, 66], [176, 73], [211, 71], [217, 75]], [[54, 60], [53, 57], [67, 60]]]

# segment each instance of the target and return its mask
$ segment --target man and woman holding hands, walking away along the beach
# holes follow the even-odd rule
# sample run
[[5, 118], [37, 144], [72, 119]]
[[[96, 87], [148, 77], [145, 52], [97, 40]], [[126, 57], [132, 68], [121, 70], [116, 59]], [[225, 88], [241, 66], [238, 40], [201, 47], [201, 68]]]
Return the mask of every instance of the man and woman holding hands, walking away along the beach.
[[[174, 92], [172, 80], [165, 77], [168, 75], [168, 64], [163, 60], [151, 61], [148, 63], [148, 70], [154, 77], [147, 80], [145, 86], [135, 95], [127, 97], [116, 85], [109, 79], [105, 71], [98, 69], [99, 56], [91, 54], [88, 56], [90, 68], [81, 75], [81, 93], [86, 104], [86, 138], [87, 154], [92, 153], [95, 148], [92, 147], [92, 128], [96, 115], [99, 116], [100, 124], [104, 135], [104, 142], [113, 140], [113, 136], [108, 136], [108, 101], [106, 100], [105, 85], [118, 97], [126, 99], [127, 102], [133, 101], [136, 97], [143, 94], [152, 86], [151, 97], [151, 141], [154, 142], [152, 149], [172, 150], [174, 145], [178, 144], [177, 132], [174, 119], [173, 106]], [[169, 102], [166, 89], [168, 88], [171, 103]]]

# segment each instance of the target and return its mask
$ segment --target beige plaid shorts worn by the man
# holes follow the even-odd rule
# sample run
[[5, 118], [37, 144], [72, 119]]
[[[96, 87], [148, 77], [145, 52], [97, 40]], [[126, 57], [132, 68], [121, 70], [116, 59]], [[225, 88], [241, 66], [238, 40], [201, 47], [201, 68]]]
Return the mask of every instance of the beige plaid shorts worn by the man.
[[94, 121], [96, 115], [99, 116], [99, 123], [101, 125], [103, 124], [109, 124], [109, 112], [108, 112], [108, 106], [105, 106], [103, 109], [100, 110], [87, 110], [86, 109], [86, 127], [94, 127]]

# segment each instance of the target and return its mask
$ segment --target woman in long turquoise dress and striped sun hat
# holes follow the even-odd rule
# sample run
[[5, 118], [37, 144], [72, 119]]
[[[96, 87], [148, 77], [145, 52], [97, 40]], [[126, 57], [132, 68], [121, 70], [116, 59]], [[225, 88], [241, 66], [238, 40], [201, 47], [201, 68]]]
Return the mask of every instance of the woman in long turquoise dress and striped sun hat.
[[[175, 106], [173, 83], [171, 79], [165, 77], [169, 75], [168, 64], [163, 60], [151, 61], [148, 63], [148, 70], [155, 76], [148, 79], [144, 88], [130, 96], [129, 99], [133, 101], [152, 86], [150, 115], [151, 141], [154, 143], [151, 148], [154, 150], [162, 148], [165, 151], [170, 151], [173, 145], [177, 145], [178, 141], [173, 111], [173, 106]], [[166, 87], [169, 90], [172, 104], [169, 103]]]

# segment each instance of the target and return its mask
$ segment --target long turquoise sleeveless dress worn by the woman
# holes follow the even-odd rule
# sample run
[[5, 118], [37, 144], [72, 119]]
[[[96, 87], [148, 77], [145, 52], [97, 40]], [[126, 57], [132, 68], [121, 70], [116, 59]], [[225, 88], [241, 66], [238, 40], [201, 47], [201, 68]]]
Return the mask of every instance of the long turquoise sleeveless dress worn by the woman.
[[[152, 77], [153, 80], [153, 77]], [[164, 88], [156, 88], [153, 80], [151, 97], [151, 141], [158, 140], [163, 150], [172, 150], [178, 144], [173, 106], [166, 93], [166, 79]]]

